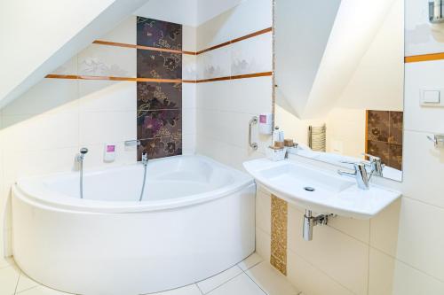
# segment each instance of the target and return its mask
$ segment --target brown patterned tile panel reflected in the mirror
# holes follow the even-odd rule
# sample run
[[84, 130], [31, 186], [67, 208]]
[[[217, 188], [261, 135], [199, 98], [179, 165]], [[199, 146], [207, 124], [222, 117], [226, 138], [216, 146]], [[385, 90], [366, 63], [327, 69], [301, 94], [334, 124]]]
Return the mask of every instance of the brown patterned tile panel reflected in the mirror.
[[402, 170], [402, 112], [367, 111], [366, 151]]

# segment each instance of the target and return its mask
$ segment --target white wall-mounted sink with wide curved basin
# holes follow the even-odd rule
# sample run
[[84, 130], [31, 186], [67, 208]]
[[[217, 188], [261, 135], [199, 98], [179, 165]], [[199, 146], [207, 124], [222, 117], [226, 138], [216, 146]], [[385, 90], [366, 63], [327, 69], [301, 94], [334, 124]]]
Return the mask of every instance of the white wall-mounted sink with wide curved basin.
[[370, 219], [400, 198], [398, 191], [373, 184], [369, 190], [361, 190], [353, 178], [289, 159], [255, 159], [243, 166], [275, 196], [315, 213]]

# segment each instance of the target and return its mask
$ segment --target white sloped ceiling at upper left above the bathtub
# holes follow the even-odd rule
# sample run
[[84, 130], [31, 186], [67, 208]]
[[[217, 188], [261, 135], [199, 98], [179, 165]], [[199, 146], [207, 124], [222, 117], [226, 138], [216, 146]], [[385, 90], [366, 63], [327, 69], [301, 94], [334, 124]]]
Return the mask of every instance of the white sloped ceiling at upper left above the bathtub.
[[145, 3], [147, 0], [1, 1], [0, 107]]

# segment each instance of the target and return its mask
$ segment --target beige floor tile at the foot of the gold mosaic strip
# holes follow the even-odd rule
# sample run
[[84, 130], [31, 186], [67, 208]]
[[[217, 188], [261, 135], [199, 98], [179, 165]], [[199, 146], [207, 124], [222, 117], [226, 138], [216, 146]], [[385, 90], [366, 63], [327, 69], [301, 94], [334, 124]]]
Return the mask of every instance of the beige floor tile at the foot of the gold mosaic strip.
[[246, 273], [268, 295], [297, 295], [299, 293], [285, 276], [266, 261], [250, 268]]

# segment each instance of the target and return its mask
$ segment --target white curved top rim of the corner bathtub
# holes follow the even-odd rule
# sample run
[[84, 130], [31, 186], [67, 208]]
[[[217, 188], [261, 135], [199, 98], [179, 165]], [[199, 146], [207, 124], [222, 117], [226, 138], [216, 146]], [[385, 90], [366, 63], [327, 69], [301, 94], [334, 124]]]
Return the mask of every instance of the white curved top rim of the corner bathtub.
[[[59, 175], [71, 175], [75, 172], [62, 172], [50, 175], [39, 175], [28, 178], [19, 179], [12, 185], [12, 198], [20, 198], [21, 200], [29, 203], [32, 206], [41, 206], [46, 209], [58, 209], [69, 212], [81, 212], [81, 213], [143, 213], [153, 211], [163, 211], [168, 209], [175, 209], [183, 206], [193, 206], [201, 203], [210, 202], [212, 200], [229, 196], [230, 194], [242, 190], [251, 184], [255, 183], [254, 179], [239, 171], [233, 167], [228, 167], [214, 159], [202, 155], [192, 156], [175, 156], [165, 159], [155, 159], [152, 161], [171, 160], [173, 158], [198, 158], [204, 161], [210, 162], [211, 165], [226, 169], [231, 175], [234, 176], [234, 182], [225, 185], [216, 190], [209, 190], [203, 193], [198, 193], [181, 198], [167, 198], [163, 200], [154, 201], [106, 201], [106, 200], [91, 200], [80, 199], [67, 196], [63, 193], [57, 193], [52, 190], [43, 190], [39, 193], [29, 193], [21, 186], [21, 182], [28, 182], [29, 180], [39, 180], [47, 177], [56, 177]], [[107, 171], [111, 169], [118, 169], [121, 167], [136, 166], [136, 164], [123, 165], [119, 167], [105, 167], [105, 168], [92, 168], [88, 172], [94, 173], [98, 171]], [[45, 194], [44, 197], [41, 195]]]

